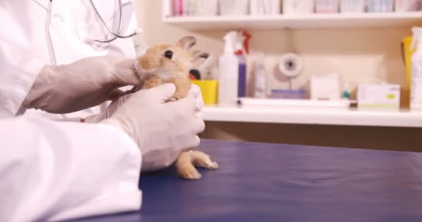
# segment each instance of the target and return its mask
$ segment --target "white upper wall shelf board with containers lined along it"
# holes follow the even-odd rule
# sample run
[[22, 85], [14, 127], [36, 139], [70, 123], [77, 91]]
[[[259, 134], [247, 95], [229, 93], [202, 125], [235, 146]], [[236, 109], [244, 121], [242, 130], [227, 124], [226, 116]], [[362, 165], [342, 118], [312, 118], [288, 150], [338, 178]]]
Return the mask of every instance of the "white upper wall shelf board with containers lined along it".
[[164, 23], [191, 31], [275, 28], [391, 28], [422, 25], [422, 12], [165, 17]]

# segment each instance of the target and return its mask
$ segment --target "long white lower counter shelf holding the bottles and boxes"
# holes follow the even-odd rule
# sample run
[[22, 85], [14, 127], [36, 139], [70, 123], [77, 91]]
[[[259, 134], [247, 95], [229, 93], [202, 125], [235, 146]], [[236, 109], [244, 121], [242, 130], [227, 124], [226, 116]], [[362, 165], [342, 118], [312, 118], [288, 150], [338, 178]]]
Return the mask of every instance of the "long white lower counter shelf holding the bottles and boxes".
[[422, 128], [422, 112], [409, 110], [390, 112], [353, 108], [205, 106], [203, 118], [205, 121]]

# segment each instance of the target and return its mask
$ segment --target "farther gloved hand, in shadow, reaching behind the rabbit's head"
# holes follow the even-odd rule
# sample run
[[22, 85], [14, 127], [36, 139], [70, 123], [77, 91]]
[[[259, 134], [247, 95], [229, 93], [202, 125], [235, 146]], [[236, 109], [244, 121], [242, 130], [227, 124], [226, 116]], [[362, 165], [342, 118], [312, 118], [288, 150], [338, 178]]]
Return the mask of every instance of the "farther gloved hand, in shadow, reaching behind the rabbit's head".
[[69, 65], [46, 65], [22, 106], [51, 113], [92, 108], [121, 93], [126, 85], [138, 85], [135, 60], [117, 56], [83, 58]]

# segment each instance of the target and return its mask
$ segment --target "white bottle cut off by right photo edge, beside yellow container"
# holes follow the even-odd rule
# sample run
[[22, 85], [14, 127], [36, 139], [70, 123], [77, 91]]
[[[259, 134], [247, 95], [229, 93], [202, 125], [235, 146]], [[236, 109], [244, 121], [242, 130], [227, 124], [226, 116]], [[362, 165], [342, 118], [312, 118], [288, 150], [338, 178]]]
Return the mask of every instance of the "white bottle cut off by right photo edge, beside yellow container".
[[412, 50], [412, 76], [410, 77], [410, 109], [422, 110], [422, 28], [414, 27]]

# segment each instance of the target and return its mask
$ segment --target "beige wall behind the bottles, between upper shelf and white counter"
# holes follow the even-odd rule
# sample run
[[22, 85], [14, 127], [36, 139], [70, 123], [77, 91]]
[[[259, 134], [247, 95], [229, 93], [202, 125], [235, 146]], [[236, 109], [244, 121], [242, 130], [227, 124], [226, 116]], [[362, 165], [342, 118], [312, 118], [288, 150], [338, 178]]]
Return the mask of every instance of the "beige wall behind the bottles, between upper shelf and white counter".
[[[138, 22], [144, 28], [144, 35], [137, 37], [136, 42], [144, 38], [147, 44], [176, 43], [180, 37], [194, 35], [198, 40], [196, 48], [217, 56], [222, 53], [225, 32], [189, 32], [164, 24], [160, 0], [135, 0], [135, 6]], [[269, 88], [287, 88], [287, 80], [274, 74], [280, 55], [289, 50], [287, 32], [251, 31], [251, 34], [252, 53], [267, 55]], [[307, 29], [292, 31], [292, 35], [295, 49], [305, 61], [305, 71], [294, 80], [294, 88], [306, 89], [310, 76], [332, 72], [350, 80], [352, 87], [357, 83], [375, 83], [377, 78], [406, 87], [400, 42], [410, 35], [409, 28]]]

